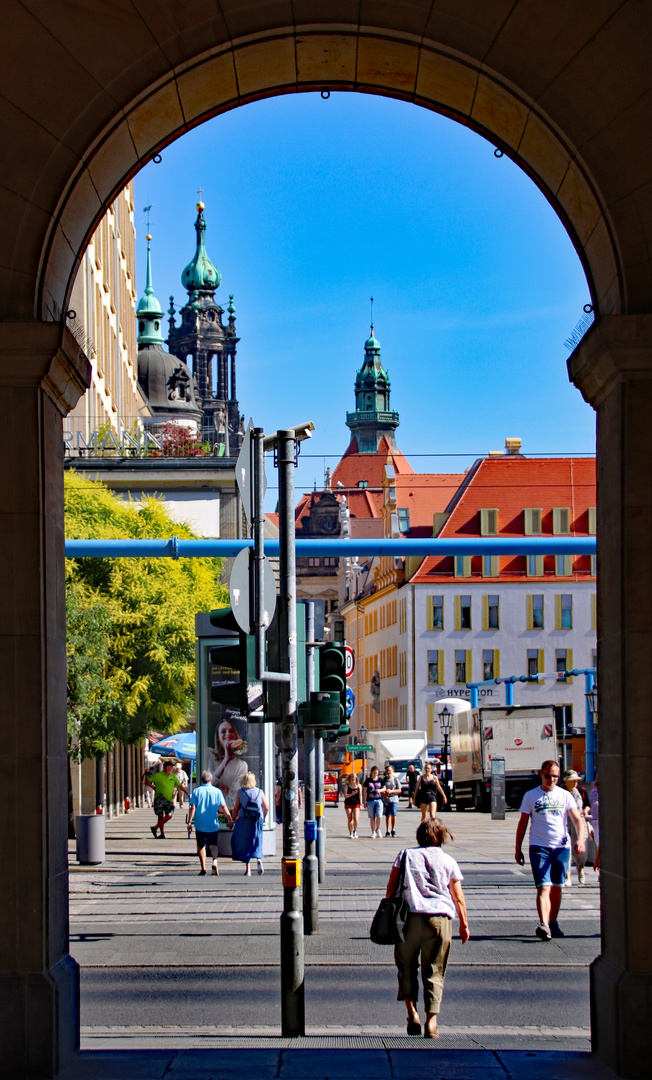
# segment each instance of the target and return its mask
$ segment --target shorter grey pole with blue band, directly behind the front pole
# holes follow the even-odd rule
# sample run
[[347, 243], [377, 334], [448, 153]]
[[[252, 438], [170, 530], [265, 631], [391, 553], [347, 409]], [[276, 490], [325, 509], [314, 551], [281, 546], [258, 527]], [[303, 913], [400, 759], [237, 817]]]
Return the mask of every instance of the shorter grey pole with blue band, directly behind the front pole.
[[[313, 600], [305, 605], [305, 690], [308, 700], [315, 689], [315, 606]], [[320, 929], [320, 885], [316, 855], [317, 823], [315, 820], [315, 729], [303, 730], [304, 779], [304, 834], [305, 858], [303, 860], [303, 932], [314, 934]]]

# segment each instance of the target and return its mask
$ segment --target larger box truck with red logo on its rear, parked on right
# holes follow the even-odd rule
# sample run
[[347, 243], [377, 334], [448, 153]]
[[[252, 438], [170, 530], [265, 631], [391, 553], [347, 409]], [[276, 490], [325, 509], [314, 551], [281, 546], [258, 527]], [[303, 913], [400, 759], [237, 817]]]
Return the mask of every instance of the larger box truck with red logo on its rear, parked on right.
[[553, 705], [487, 705], [453, 713], [450, 726], [452, 794], [458, 810], [487, 811], [491, 802], [491, 758], [505, 759], [505, 802], [520, 806], [539, 783], [546, 759], [558, 759]]

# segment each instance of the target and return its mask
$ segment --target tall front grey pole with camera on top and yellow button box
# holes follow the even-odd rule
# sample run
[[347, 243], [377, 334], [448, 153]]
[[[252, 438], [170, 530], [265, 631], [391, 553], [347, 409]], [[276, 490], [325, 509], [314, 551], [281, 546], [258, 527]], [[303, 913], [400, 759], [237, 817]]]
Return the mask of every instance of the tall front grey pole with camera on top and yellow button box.
[[305, 1034], [303, 994], [303, 920], [301, 917], [301, 859], [299, 855], [299, 746], [297, 728], [297, 568], [295, 558], [294, 430], [276, 433], [279, 464], [279, 616], [281, 670], [289, 673], [283, 693], [283, 914], [281, 915], [281, 1027], [284, 1036]]

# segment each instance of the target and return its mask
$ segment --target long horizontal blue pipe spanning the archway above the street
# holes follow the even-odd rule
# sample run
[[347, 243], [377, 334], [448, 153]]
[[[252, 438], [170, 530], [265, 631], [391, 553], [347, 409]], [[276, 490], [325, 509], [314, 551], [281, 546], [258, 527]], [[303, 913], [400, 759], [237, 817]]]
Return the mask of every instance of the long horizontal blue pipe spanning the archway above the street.
[[[230, 558], [253, 540], [66, 540], [67, 558]], [[267, 555], [279, 554], [279, 541], [266, 540]], [[595, 537], [476, 537], [450, 539], [392, 537], [378, 540], [297, 540], [297, 557], [348, 555], [595, 555]]]

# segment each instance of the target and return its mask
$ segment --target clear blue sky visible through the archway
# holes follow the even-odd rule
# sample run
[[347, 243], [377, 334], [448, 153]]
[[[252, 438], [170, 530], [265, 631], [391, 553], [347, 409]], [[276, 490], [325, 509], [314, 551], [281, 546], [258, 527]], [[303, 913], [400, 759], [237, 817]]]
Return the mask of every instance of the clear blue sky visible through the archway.
[[138, 293], [152, 203], [154, 289], [185, 302], [201, 186], [217, 297], [235, 297], [241, 410], [266, 431], [315, 423], [298, 489], [348, 446], [370, 296], [415, 469], [465, 468], [507, 435], [530, 454], [594, 450], [563, 345], [589, 300], [582, 267], [490, 143], [407, 103], [314, 93], [218, 117], [162, 158], [135, 181]]

